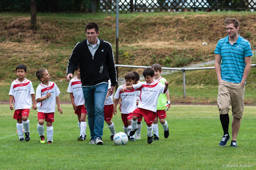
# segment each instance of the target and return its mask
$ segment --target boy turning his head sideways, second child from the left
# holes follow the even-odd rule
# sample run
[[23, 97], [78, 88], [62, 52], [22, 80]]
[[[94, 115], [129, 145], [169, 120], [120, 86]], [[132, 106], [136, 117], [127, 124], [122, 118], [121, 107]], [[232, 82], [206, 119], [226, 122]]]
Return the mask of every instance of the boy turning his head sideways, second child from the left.
[[40, 142], [45, 143], [44, 135], [44, 120], [47, 122], [47, 143], [53, 143], [53, 122], [55, 105], [57, 103], [58, 112], [62, 114], [62, 109], [59, 104], [59, 91], [58, 86], [54, 82], [50, 82], [50, 74], [46, 69], [39, 69], [36, 72], [36, 77], [41, 81], [37, 86], [35, 99], [37, 101], [37, 131], [40, 135]]

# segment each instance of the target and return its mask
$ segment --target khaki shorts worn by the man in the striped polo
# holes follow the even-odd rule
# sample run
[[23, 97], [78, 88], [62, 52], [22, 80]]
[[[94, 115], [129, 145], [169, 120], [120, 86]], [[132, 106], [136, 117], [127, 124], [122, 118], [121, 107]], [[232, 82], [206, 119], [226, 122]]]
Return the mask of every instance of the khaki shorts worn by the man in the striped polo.
[[224, 81], [219, 84], [218, 109], [219, 114], [227, 114], [232, 106], [232, 116], [241, 119], [243, 117], [243, 98], [245, 97], [245, 87], [240, 83]]

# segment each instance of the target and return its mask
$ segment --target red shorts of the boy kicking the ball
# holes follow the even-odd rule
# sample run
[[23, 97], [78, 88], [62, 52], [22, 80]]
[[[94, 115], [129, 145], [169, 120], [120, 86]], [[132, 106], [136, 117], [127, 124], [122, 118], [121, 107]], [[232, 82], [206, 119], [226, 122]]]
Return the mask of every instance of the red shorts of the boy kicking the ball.
[[142, 108], [137, 108], [133, 111], [133, 116], [137, 117], [144, 117], [144, 121], [146, 122], [147, 125], [151, 125], [153, 121], [155, 120], [156, 117], [156, 112], [147, 110], [147, 109], [142, 109]]

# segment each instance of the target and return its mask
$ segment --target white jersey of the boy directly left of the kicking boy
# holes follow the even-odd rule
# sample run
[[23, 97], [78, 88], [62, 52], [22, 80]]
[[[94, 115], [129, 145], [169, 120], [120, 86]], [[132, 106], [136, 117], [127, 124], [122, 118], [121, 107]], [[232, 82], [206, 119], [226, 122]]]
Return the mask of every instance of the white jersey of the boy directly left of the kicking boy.
[[132, 113], [136, 108], [136, 97], [139, 95], [138, 91], [134, 89], [126, 89], [125, 92], [121, 92], [121, 89], [125, 87], [125, 84], [119, 86], [115, 92], [114, 98], [121, 99], [121, 113]]

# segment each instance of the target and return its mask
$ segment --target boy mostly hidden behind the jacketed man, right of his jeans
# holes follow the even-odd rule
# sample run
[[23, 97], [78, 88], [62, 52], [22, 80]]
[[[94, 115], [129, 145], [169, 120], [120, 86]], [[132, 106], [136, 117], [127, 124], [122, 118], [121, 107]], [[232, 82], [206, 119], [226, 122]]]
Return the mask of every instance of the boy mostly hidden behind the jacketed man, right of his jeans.
[[111, 81], [109, 79], [109, 87], [108, 87], [108, 93], [105, 99], [104, 104], [104, 120], [107, 123], [107, 126], [110, 130], [110, 140], [114, 140], [113, 137], [115, 135], [115, 125], [111, 121], [113, 117], [113, 110], [114, 110], [114, 102], [113, 102], [113, 95], [109, 95], [109, 91], [111, 90]]

